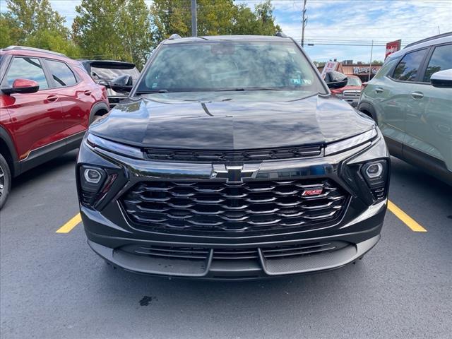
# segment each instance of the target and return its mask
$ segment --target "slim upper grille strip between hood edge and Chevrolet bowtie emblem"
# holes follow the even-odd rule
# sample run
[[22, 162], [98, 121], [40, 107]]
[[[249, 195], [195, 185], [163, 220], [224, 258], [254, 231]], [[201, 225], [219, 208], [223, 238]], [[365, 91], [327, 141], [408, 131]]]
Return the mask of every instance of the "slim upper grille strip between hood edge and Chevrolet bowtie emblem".
[[146, 148], [148, 160], [178, 162], [249, 162], [262, 160], [297, 159], [321, 155], [321, 146], [270, 148], [260, 150], [174, 150], [166, 148]]

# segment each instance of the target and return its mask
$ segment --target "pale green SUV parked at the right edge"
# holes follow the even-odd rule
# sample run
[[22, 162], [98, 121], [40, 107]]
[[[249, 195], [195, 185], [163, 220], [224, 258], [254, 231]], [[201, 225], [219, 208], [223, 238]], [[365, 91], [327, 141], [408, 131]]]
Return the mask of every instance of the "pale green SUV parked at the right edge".
[[391, 155], [452, 185], [452, 32], [391, 54], [358, 109], [377, 122]]

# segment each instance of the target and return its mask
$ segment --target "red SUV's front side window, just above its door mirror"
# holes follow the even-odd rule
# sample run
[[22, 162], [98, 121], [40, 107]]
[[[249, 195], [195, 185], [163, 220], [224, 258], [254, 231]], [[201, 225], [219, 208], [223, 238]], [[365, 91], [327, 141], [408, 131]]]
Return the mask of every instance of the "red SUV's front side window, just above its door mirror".
[[40, 90], [49, 88], [39, 59], [14, 58], [6, 75], [6, 86], [11, 87], [16, 79], [34, 80], [40, 85]]

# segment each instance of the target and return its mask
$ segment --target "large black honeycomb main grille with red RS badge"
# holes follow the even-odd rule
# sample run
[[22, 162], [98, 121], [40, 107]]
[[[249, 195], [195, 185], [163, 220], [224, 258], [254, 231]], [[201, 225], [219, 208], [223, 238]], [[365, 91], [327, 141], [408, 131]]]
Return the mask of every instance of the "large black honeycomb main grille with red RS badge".
[[[316, 195], [304, 195], [313, 190]], [[121, 198], [126, 215], [143, 230], [231, 237], [333, 225], [347, 201], [329, 179], [141, 182]]]

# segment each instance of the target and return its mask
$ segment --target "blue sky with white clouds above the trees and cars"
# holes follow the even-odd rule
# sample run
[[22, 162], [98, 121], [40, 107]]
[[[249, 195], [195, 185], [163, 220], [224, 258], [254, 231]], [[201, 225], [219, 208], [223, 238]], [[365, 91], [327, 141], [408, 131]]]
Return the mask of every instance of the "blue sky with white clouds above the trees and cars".
[[[75, 7], [81, 1], [50, 2], [54, 10], [66, 17], [66, 25], [70, 27], [76, 16]], [[261, 0], [236, 2], [254, 8]], [[273, 0], [272, 3], [276, 23], [283, 32], [301, 39], [303, 0]], [[6, 11], [6, 0], [0, 0], [0, 11]], [[305, 49], [311, 59], [368, 62], [372, 40], [375, 44], [372, 59], [383, 60], [385, 47], [381, 45], [386, 42], [401, 39], [404, 46], [438, 32], [451, 32], [452, 0], [307, 0], [307, 16], [304, 36], [314, 46], [305, 45]]]

